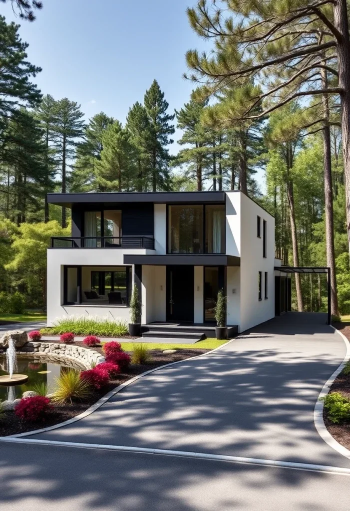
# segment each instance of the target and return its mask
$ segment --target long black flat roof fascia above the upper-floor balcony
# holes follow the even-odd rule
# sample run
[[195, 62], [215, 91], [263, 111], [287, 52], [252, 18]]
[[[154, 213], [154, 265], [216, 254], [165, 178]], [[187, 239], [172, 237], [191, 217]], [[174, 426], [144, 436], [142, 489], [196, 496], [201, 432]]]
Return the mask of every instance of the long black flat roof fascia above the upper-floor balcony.
[[72, 207], [72, 204], [133, 203], [154, 204], [225, 203], [224, 192], [101, 192], [49, 193], [48, 203]]

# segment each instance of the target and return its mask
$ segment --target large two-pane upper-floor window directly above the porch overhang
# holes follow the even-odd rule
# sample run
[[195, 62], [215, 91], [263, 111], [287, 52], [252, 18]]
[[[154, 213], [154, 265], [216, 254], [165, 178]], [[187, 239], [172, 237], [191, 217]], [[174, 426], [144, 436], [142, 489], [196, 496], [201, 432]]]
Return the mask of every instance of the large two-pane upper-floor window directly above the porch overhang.
[[169, 206], [170, 253], [224, 253], [224, 204]]

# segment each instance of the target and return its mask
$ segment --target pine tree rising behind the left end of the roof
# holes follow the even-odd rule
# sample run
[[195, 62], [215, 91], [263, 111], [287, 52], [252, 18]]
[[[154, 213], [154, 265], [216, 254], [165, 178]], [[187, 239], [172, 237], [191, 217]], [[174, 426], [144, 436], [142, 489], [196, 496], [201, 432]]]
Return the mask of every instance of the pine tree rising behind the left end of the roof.
[[96, 182], [96, 165], [101, 160], [103, 134], [113, 123], [114, 119], [104, 112], [97, 113], [89, 120], [84, 129], [83, 141], [77, 145], [72, 191], [101, 191]]

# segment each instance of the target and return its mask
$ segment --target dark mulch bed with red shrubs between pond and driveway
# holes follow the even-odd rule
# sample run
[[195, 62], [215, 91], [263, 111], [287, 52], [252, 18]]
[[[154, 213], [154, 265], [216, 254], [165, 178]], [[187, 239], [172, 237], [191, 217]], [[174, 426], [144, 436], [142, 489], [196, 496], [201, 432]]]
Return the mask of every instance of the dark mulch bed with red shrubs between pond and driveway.
[[[76, 342], [75, 344], [87, 348], [87, 346], [85, 346], [82, 342]], [[103, 353], [102, 346], [92, 347], [91, 350]], [[127, 373], [121, 373], [120, 375], [118, 375], [118, 379], [110, 380], [109, 384], [105, 386], [103, 389], [94, 391], [94, 394], [91, 396], [89, 400], [86, 400], [84, 402], [76, 402], [73, 403], [73, 405], [71, 404], [60, 406], [54, 405], [54, 409], [50, 411], [46, 416], [45, 422], [40, 423], [23, 422], [20, 419], [18, 419], [18, 417], [13, 411], [5, 412], [2, 416], [2, 419], [0, 419], [0, 436], [25, 433], [27, 431], [44, 428], [47, 426], [53, 426], [54, 424], [59, 424], [63, 421], [67, 421], [68, 419], [72, 419], [72, 417], [79, 415], [84, 410], [89, 408], [91, 405], [96, 403], [96, 401], [105, 396], [107, 392], [114, 389], [115, 387], [118, 387], [122, 383], [130, 380], [134, 376], [144, 373], [149, 369], [159, 367], [160, 365], [169, 364], [170, 362], [177, 362], [178, 360], [185, 360], [187, 358], [201, 355], [202, 353], [206, 353], [208, 351], [210, 350], [186, 349], [177, 350], [175, 353], [162, 353], [161, 350], [150, 350], [149, 354], [152, 357], [152, 363], [145, 365], [131, 365]]]

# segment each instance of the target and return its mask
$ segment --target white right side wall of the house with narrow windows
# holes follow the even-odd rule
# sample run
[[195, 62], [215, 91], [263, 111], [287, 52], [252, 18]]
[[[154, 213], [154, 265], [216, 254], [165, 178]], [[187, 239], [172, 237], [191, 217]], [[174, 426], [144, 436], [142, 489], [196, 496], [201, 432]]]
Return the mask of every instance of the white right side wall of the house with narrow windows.
[[[274, 317], [274, 218], [258, 204], [241, 195], [241, 321], [240, 332]], [[261, 238], [257, 216], [261, 217]], [[266, 220], [266, 258], [263, 258], [263, 220]], [[262, 300], [259, 301], [258, 272], [262, 272]], [[264, 278], [268, 272], [268, 298]]]

